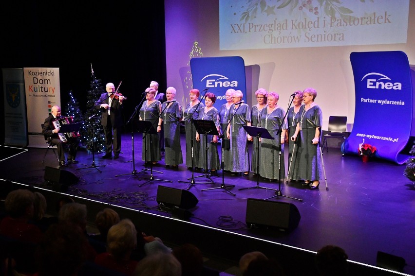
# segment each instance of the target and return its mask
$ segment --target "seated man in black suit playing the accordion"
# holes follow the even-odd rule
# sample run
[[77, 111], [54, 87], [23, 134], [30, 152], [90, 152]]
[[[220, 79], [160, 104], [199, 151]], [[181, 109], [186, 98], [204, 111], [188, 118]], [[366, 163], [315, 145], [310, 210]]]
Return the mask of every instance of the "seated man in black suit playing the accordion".
[[79, 141], [75, 137], [68, 138], [68, 142], [64, 143], [59, 138], [59, 129], [55, 127], [53, 121], [60, 118], [61, 111], [60, 107], [57, 105], [52, 106], [52, 113], [49, 115], [48, 118], [45, 119], [43, 123], [42, 135], [44, 135], [48, 142], [51, 145], [57, 146], [57, 155], [59, 156], [59, 166], [64, 167], [66, 166], [65, 162], [65, 144], [68, 145], [69, 148], [69, 155], [68, 155], [68, 163], [78, 163], [75, 159], [76, 151], [78, 150]]

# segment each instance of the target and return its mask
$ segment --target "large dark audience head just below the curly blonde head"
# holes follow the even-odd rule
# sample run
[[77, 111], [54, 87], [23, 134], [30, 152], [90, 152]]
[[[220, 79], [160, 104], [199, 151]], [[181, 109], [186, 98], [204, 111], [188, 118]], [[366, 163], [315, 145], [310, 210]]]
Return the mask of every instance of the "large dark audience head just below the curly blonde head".
[[87, 260], [87, 244], [79, 228], [51, 225], [36, 252], [39, 276], [76, 275]]

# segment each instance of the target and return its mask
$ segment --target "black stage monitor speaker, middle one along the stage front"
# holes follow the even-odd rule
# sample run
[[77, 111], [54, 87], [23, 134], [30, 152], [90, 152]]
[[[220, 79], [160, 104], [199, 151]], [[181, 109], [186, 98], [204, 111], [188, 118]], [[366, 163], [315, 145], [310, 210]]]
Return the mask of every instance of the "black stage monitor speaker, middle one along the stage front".
[[190, 209], [199, 202], [197, 198], [188, 190], [175, 189], [165, 186], [157, 187], [157, 203], [167, 207], [179, 207]]

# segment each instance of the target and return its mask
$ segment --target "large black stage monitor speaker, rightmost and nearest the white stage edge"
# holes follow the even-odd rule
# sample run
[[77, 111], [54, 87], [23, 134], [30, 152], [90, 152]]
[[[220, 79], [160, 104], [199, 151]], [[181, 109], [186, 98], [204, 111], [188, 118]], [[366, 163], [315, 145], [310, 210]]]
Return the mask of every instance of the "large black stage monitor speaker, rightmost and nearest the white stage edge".
[[300, 212], [292, 203], [248, 198], [246, 225], [292, 231], [300, 222]]

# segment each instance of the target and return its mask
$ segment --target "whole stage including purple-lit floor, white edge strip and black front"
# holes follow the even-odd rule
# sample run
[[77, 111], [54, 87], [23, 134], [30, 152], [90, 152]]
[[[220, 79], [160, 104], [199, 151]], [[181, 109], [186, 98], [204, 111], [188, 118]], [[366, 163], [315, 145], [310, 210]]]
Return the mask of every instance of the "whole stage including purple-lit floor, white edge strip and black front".
[[[402, 257], [407, 263], [403, 272], [415, 274], [415, 189], [403, 175], [404, 165], [378, 159], [363, 163], [358, 155], [342, 156], [339, 148], [329, 148], [323, 153], [327, 181], [321, 179], [320, 189], [310, 190], [299, 183], [257, 180], [252, 172], [249, 177], [230, 173], [223, 177], [219, 172], [219, 176], [211, 176], [214, 182], [211, 183], [208, 177], [201, 176], [202, 172], [194, 171], [192, 179], [192, 170], [185, 164], [178, 169], [166, 168], [164, 159], [152, 168], [145, 167], [138, 133], [133, 138], [131, 134], [123, 135], [122, 154], [116, 160], [101, 159], [102, 154], [80, 150], [76, 157], [79, 164], [62, 170], [57, 169], [51, 150], [42, 164], [46, 149], [27, 149], [18, 150], [19, 154], [0, 162], [2, 190], [28, 185], [42, 190], [51, 200], [61, 193], [76, 196], [77, 201], [88, 205], [91, 222], [97, 210], [111, 205], [122, 217], [140, 220], [138, 224], [142, 224], [145, 232], [170, 244], [192, 242], [206, 255], [228, 262], [237, 263], [245, 252], [253, 250], [275, 254], [286, 271], [289, 266], [291, 272], [287, 271], [287, 275], [315, 275], [314, 254], [327, 244], [338, 245], [346, 251], [353, 271], [391, 274], [363, 265], [376, 266], [380, 251]], [[183, 158], [185, 149], [182, 134]], [[51, 170], [69, 173], [61, 173], [63, 183], [50, 183], [45, 181], [46, 167], [49, 167], [47, 174]], [[74, 176], [79, 179], [75, 185], [65, 183]], [[149, 181], [151, 176], [155, 180]], [[232, 185], [235, 187], [226, 188]], [[197, 204], [186, 210], [176, 208], [173, 214], [169, 206], [160, 209], [156, 201], [159, 186], [164, 191], [187, 190], [186, 194], [194, 196]], [[276, 196], [276, 190], [283, 196]], [[264, 216], [270, 220], [276, 216], [275, 208], [294, 205], [301, 216], [298, 226], [292, 231], [249, 229], [247, 202], [255, 199], [270, 207], [264, 209]]]

